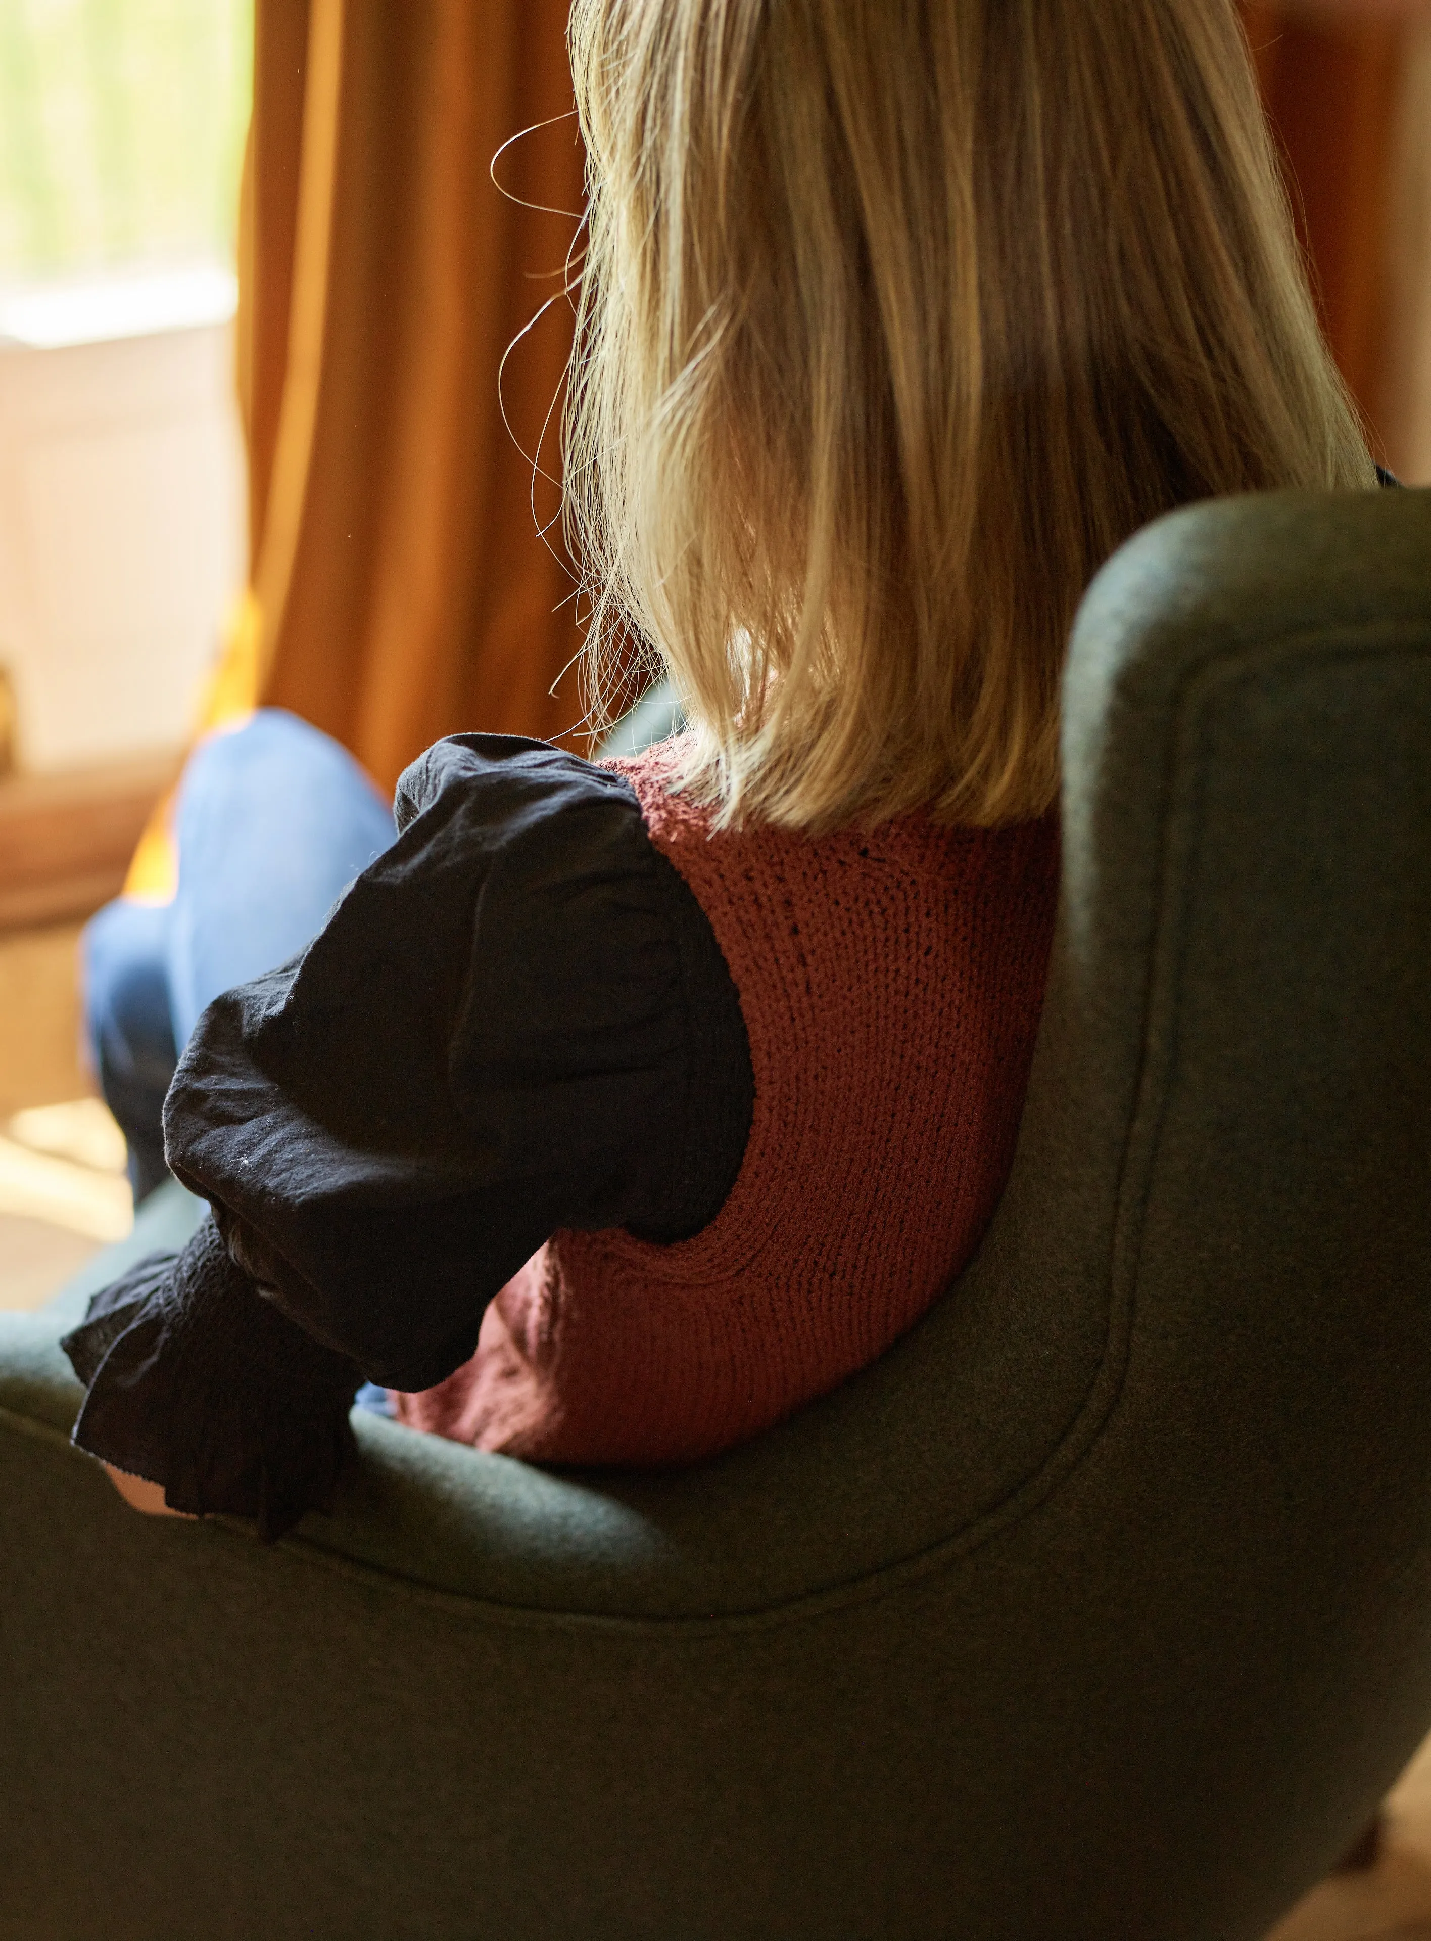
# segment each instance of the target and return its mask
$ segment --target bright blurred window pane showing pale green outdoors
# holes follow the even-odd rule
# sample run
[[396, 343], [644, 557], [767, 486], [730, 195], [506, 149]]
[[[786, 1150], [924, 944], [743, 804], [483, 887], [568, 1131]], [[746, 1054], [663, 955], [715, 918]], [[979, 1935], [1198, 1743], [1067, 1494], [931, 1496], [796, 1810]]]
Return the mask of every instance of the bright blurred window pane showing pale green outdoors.
[[235, 252], [254, 0], [0, 0], [0, 283]]

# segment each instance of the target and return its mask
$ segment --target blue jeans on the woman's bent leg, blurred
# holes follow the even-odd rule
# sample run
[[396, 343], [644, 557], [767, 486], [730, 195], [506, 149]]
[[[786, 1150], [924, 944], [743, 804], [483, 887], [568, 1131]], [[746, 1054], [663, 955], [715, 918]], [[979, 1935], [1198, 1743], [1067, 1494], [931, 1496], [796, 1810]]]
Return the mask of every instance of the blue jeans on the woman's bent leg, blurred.
[[167, 1178], [161, 1110], [178, 1052], [219, 992], [297, 955], [394, 840], [353, 757], [262, 708], [200, 743], [175, 806], [175, 901], [107, 905], [83, 938], [83, 1019], [136, 1201]]

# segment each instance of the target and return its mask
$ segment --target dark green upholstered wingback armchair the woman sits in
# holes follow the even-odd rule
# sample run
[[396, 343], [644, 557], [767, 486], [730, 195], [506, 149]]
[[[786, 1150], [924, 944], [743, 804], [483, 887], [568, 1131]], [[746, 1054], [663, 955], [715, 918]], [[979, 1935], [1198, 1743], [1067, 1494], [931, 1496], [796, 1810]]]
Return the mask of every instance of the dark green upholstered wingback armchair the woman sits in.
[[[1014, 1176], [717, 1462], [151, 1522], [0, 1332], [4, 1941], [1255, 1941], [1431, 1722], [1431, 497], [1134, 540]], [[413, 1289], [421, 1299], [421, 1287]]]

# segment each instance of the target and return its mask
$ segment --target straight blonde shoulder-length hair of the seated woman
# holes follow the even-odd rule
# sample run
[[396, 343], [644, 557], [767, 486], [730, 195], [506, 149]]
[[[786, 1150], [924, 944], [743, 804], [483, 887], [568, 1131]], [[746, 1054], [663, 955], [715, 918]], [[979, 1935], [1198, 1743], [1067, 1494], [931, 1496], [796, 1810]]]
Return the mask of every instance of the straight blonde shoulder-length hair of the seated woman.
[[1214, 493], [1375, 485], [1235, 0], [576, 0], [597, 703], [828, 829], [1059, 786], [1074, 608]]

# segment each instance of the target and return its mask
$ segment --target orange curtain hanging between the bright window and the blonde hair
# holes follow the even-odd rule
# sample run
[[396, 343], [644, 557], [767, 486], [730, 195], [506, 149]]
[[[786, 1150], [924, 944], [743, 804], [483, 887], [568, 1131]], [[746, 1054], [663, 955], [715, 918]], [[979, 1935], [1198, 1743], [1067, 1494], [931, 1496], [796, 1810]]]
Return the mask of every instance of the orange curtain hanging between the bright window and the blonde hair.
[[[558, 493], [524, 456], [541, 443], [560, 470], [582, 208], [566, 0], [256, 14], [238, 357], [252, 588], [231, 660], [238, 687], [390, 788], [442, 734], [576, 726], [574, 677], [551, 695], [578, 646], [570, 567], [560, 530], [537, 534]], [[496, 163], [504, 196], [489, 169], [525, 128]], [[502, 355], [549, 297], [498, 404]]]

